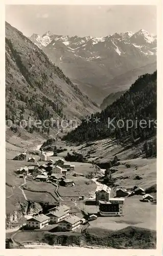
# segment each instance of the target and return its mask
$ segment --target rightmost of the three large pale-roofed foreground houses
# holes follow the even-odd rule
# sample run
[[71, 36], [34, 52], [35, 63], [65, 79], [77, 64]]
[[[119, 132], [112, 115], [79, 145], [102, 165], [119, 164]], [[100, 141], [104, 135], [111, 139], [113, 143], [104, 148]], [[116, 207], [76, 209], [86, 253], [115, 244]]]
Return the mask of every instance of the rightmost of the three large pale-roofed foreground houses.
[[82, 220], [77, 216], [69, 216], [69, 218], [64, 219], [58, 223], [58, 228], [62, 231], [73, 231], [79, 228], [82, 224]]

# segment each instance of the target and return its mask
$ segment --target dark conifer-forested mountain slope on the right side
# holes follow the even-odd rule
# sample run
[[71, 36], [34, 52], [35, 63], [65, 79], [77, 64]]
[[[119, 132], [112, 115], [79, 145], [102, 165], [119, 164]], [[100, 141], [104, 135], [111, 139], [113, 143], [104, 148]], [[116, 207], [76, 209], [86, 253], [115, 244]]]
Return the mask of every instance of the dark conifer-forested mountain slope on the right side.
[[119, 99], [101, 113], [83, 120], [81, 125], [68, 133], [64, 139], [81, 142], [113, 137], [126, 140], [128, 144], [155, 136], [156, 79], [157, 72], [140, 76]]

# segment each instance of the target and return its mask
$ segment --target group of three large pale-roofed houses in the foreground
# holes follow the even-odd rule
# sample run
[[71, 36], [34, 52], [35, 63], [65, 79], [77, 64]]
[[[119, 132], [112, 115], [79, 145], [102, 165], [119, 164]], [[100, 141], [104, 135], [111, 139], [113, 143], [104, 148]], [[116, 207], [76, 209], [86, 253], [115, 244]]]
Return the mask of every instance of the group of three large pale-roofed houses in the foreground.
[[48, 214], [38, 215], [27, 220], [27, 227], [30, 229], [40, 229], [49, 224], [57, 224], [60, 231], [74, 231], [84, 224], [85, 219], [70, 214], [71, 208], [66, 205], [59, 205], [49, 209]]

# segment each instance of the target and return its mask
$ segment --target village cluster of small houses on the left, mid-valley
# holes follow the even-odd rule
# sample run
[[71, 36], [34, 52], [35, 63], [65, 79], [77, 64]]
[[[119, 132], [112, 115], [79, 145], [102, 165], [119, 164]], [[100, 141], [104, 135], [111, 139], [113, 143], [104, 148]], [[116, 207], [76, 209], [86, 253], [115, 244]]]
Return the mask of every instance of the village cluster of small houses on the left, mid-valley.
[[[35, 158], [28, 158], [28, 162], [35, 162]], [[60, 158], [55, 162], [50, 159], [46, 164], [39, 165], [37, 162], [31, 166], [24, 166], [17, 169], [19, 178], [27, 175], [32, 176], [35, 181], [39, 182], [54, 182], [62, 186], [74, 186], [73, 180], [66, 179], [66, 176], [75, 170], [75, 165], [65, 163], [65, 160]], [[35, 175], [37, 171], [37, 175]]]

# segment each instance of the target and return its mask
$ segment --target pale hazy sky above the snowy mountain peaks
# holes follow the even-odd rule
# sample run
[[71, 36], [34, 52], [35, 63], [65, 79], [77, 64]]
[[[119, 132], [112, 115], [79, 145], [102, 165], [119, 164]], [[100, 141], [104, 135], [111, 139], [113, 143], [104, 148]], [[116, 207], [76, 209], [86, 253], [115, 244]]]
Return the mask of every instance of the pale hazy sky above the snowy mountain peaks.
[[26, 36], [106, 36], [145, 29], [156, 34], [155, 6], [8, 5], [6, 21]]

